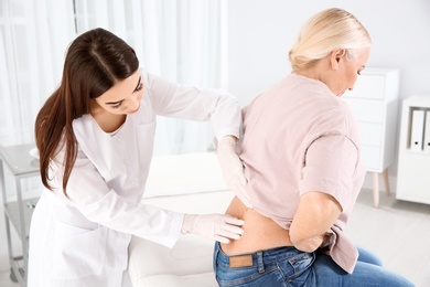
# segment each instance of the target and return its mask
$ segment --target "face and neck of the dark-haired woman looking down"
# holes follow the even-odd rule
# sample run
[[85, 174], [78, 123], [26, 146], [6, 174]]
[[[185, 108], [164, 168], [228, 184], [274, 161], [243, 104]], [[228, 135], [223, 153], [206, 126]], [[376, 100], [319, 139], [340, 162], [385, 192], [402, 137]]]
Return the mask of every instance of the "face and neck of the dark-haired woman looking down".
[[143, 82], [137, 71], [92, 99], [90, 114], [103, 130], [111, 132], [123, 124], [128, 114], [139, 110], [142, 97]]

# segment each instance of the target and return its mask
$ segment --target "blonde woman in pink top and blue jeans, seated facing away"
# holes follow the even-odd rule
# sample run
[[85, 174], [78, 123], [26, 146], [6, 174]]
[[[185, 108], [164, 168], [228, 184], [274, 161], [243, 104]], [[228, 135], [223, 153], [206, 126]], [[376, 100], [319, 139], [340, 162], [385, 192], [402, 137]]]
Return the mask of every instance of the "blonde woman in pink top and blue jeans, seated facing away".
[[365, 170], [341, 96], [354, 88], [370, 43], [347, 11], [315, 14], [289, 53], [292, 73], [244, 109], [248, 184], [237, 185], [226, 213], [243, 219], [245, 232], [215, 245], [219, 286], [412, 286], [343, 231]]

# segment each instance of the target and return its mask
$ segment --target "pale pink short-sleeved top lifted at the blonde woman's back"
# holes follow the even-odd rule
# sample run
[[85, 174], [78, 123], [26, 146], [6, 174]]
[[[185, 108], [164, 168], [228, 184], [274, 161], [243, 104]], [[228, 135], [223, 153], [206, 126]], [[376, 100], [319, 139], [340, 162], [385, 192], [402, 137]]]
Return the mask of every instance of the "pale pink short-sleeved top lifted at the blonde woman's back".
[[365, 170], [347, 105], [322, 82], [288, 75], [244, 108], [240, 157], [254, 209], [283, 228], [301, 194], [320, 191], [337, 200], [343, 212], [326, 251], [352, 273], [358, 252], [343, 230]]

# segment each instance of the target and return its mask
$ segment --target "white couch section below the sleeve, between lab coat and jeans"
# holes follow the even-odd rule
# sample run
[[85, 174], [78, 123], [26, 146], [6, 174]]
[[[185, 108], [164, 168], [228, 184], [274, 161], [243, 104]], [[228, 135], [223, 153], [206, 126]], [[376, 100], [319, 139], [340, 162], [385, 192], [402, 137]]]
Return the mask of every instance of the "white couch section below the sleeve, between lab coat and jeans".
[[196, 235], [181, 236], [171, 249], [135, 237], [130, 244], [130, 279], [135, 287], [217, 286], [213, 249], [214, 242]]

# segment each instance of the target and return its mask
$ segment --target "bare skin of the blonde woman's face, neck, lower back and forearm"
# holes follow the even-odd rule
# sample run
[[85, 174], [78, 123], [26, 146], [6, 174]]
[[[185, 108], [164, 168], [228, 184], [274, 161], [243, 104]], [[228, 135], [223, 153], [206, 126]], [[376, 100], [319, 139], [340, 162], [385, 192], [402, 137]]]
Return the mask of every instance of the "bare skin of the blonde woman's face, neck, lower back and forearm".
[[[369, 52], [369, 49], [364, 49], [357, 59], [348, 60], [346, 51], [338, 49], [298, 74], [321, 81], [336, 96], [342, 96], [347, 89], [354, 88]], [[333, 196], [323, 191], [307, 192], [300, 198], [290, 230], [283, 230], [271, 219], [248, 209], [238, 198], [232, 201], [226, 213], [245, 221], [243, 236], [229, 244], [222, 244], [222, 249], [227, 255], [279, 246], [294, 246], [300, 251], [313, 252], [326, 241], [326, 232], [341, 215], [342, 208]]]

